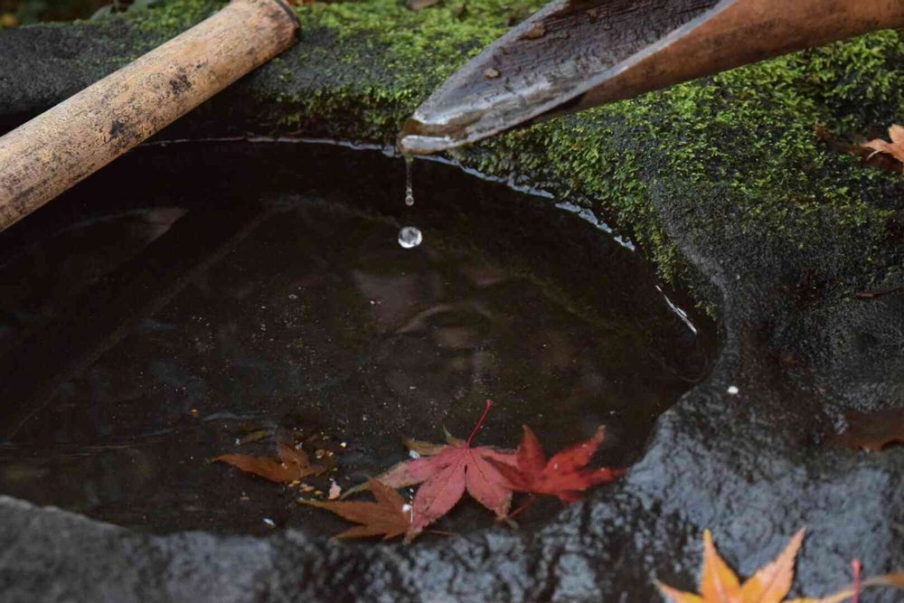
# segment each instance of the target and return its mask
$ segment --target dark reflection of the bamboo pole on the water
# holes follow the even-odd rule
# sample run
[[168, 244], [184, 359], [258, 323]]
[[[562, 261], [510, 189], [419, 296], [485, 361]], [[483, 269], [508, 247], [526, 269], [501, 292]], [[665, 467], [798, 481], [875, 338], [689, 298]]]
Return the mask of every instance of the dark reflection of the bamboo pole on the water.
[[[259, 206], [189, 212], [136, 259], [72, 302], [59, 319], [0, 359], [12, 376], [0, 400], [14, 407], [5, 413], [0, 442], [13, 438], [62, 383], [97, 362], [270, 215]], [[36, 371], [49, 376], [36, 381]]]

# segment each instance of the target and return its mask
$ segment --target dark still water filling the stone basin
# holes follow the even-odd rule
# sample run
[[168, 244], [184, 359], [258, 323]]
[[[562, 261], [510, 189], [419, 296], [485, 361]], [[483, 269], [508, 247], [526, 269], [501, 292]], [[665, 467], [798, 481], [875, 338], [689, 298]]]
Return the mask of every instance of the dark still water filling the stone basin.
[[[411, 208], [404, 184], [400, 159], [338, 146], [146, 146], [5, 232], [0, 494], [147, 532], [329, 535], [347, 524], [296, 503], [315, 493], [210, 460], [297, 441], [336, 465], [306, 485], [345, 489], [402, 437], [466, 437], [486, 399], [477, 443], [605, 423], [594, 463], [630, 466], [708, 374], [713, 325], [549, 199], [437, 163]], [[436, 527], [492, 525], [466, 502]]]

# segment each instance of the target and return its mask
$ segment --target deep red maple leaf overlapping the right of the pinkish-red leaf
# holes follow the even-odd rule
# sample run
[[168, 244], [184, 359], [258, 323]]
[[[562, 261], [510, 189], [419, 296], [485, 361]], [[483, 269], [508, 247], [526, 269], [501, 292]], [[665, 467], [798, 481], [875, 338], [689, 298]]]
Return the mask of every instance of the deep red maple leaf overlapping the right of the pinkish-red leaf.
[[625, 473], [625, 469], [601, 467], [585, 468], [606, 437], [606, 427], [600, 425], [593, 438], [562, 450], [546, 460], [540, 440], [531, 428], [524, 427], [524, 439], [515, 454], [516, 463], [495, 464], [515, 492], [558, 496], [563, 503], [579, 501], [589, 487], [606, 484]]

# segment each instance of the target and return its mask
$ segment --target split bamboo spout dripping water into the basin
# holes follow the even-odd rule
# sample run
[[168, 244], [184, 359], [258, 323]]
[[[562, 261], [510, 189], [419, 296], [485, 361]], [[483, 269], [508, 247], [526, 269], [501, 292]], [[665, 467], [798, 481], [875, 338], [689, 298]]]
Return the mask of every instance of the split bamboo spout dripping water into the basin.
[[450, 77], [400, 133], [425, 155], [904, 25], [904, 0], [556, 0]]

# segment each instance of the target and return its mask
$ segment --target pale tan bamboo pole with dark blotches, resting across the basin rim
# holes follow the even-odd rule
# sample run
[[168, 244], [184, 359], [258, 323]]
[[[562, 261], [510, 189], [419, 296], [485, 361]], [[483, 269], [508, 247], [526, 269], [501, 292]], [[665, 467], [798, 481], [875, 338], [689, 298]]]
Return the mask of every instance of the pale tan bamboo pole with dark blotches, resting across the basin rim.
[[282, 0], [217, 14], [0, 137], [0, 231], [295, 42]]

